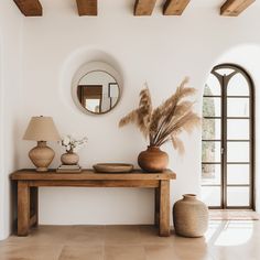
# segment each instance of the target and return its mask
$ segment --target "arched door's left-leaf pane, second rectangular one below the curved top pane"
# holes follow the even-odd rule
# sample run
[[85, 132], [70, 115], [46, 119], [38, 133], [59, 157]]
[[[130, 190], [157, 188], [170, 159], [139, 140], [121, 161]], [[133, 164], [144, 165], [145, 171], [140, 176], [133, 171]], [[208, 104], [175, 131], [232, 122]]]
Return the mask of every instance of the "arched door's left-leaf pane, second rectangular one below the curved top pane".
[[203, 139], [204, 140], [219, 140], [220, 139], [220, 119], [205, 119], [203, 118]]

